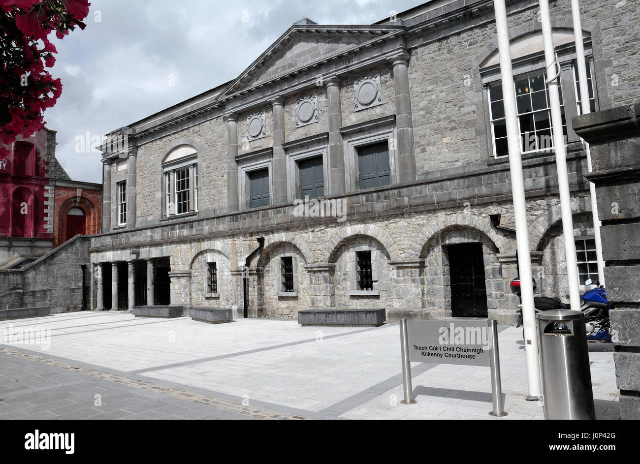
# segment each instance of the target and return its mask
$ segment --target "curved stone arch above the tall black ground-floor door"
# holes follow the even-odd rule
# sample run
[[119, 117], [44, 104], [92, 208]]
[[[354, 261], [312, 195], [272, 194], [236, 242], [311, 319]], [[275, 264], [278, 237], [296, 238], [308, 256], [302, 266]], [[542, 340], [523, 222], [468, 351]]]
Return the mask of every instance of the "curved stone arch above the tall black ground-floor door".
[[501, 236], [496, 232], [495, 227], [493, 227], [489, 218], [459, 212], [445, 216], [444, 218], [438, 218], [436, 221], [433, 221], [433, 223], [425, 225], [424, 228], [420, 230], [418, 236], [413, 239], [413, 243], [410, 248], [412, 257], [422, 257], [424, 247], [433, 241], [434, 237], [442, 234], [445, 230], [454, 227], [466, 227], [479, 230], [479, 232], [482, 232], [490, 239], [490, 241], [493, 242], [500, 253], [504, 253], [510, 248], [515, 247], [514, 244], [509, 243], [509, 240], [506, 237]]

